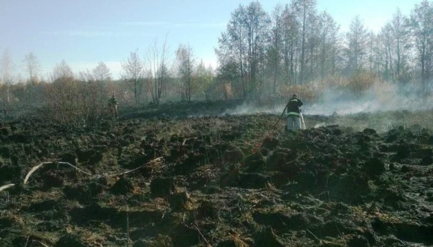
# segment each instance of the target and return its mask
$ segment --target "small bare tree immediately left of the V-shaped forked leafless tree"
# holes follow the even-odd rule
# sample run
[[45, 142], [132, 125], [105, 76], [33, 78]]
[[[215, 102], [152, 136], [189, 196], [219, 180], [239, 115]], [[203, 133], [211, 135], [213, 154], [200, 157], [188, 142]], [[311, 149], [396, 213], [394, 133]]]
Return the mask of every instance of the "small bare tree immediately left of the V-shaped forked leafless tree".
[[135, 104], [138, 104], [143, 89], [144, 63], [138, 56], [138, 50], [131, 52], [126, 62], [122, 62], [123, 72], [120, 74], [134, 94]]

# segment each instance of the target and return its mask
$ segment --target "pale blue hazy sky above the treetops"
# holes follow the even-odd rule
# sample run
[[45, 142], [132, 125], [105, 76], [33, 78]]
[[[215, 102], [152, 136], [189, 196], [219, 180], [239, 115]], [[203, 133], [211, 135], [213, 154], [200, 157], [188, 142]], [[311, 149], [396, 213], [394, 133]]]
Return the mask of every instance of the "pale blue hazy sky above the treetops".
[[[120, 62], [131, 51], [143, 55], [155, 39], [172, 51], [189, 43], [195, 56], [216, 67], [214, 47], [226, 30], [230, 14], [246, 0], [0, 0], [0, 52], [9, 49], [14, 73], [23, 72], [23, 58], [30, 51], [40, 60], [42, 75], [65, 60], [74, 72], [105, 62], [118, 78]], [[342, 31], [356, 15], [378, 31], [397, 7], [409, 14], [421, 0], [317, 0], [318, 12], [326, 10]], [[260, 1], [271, 13], [277, 3]]]

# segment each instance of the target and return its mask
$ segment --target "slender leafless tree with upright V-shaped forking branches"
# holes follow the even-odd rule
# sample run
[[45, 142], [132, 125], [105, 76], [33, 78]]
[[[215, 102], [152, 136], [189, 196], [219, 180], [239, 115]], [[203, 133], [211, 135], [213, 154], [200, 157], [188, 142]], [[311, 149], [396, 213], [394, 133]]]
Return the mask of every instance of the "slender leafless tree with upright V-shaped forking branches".
[[157, 39], [153, 45], [148, 47], [144, 56], [145, 66], [148, 75], [151, 75], [151, 95], [153, 103], [159, 104], [164, 88], [164, 81], [168, 77], [167, 69], [168, 46], [167, 38], [162, 47], [158, 47]]

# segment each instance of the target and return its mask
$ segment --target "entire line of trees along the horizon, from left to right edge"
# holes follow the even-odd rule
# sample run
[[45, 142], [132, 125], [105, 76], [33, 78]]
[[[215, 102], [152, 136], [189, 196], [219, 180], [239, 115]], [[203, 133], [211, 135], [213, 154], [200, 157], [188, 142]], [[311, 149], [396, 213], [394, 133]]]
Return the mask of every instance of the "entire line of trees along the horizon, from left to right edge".
[[[167, 39], [167, 38], [166, 38]], [[94, 115], [110, 94], [124, 104], [250, 99], [267, 101], [297, 91], [307, 100], [331, 88], [365, 91], [388, 82], [430, 93], [433, 76], [433, 3], [422, 0], [408, 16], [398, 8], [377, 33], [354, 16], [348, 32], [315, 0], [291, 0], [269, 13], [258, 1], [239, 5], [214, 48], [218, 67], [206, 67], [189, 44], [170, 52], [166, 40], [122, 61], [120, 80], [104, 62], [73, 73], [63, 60], [45, 78], [30, 52], [25, 75], [13, 74], [10, 51], [0, 60], [0, 104], [85, 108]]]

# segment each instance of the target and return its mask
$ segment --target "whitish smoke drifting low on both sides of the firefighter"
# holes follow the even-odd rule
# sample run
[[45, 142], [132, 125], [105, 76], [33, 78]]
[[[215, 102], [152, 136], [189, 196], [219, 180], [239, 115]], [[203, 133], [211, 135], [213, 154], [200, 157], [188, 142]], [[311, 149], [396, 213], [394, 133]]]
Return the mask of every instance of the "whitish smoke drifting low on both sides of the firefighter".
[[[377, 82], [363, 93], [347, 89], [326, 89], [319, 92], [315, 102], [304, 102], [304, 115], [353, 115], [377, 113], [392, 110], [431, 110], [433, 98], [420, 96], [419, 89], [412, 84], [397, 86], [388, 82]], [[302, 95], [300, 95], [302, 99]], [[234, 109], [227, 109], [223, 115], [281, 114], [287, 102], [274, 106], [255, 106], [244, 103]]]

